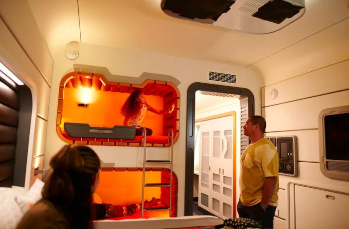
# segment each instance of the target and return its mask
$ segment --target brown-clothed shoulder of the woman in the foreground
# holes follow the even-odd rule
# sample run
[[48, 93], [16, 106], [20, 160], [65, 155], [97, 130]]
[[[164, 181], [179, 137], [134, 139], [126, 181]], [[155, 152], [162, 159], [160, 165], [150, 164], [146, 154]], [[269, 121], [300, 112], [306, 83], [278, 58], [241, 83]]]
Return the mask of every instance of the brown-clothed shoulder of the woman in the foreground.
[[40, 200], [24, 214], [17, 225], [17, 229], [24, 228], [66, 229], [68, 228], [68, 222], [64, 214], [51, 202], [48, 200]]

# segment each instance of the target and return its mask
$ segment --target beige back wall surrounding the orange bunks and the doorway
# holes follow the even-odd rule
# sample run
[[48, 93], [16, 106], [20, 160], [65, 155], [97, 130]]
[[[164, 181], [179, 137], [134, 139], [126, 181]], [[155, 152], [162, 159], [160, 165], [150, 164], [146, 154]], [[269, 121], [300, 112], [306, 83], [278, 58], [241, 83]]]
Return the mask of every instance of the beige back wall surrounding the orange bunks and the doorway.
[[[52, 87], [50, 95], [50, 107], [48, 113], [47, 137], [45, 147], [44, 166], [48, 167], [48, 161], [65, 143], [60, 140], [55, 131], [58, 87], [61, 78], [73, 71], [73, 64], [106, 67], [112, 75], [108, 80], [112, 81], [122, 76], [139, 77], [144, 72], [170, 75], [180, 81], [180, 132], [179, 139], [174, 144], [174, 172], [178, 177], [178, 215], [183, 215], [184, 207], [184, 164], [185, 164], [185, 132], [186, 132], [186, 90], [194, 82], [208, 81], [208, 71], [233, 73], [237, 75], [237, 83], [232, 85], [250, 89], [255, 101], [260, 101], [260, 88], [262, 80], [251, 70], [219, 63], [197, 61], [192, 59], [165, 56], [135, 50], [123, 50], [106, 48], [95, 45], [81, 44], [80, 56], [72, 61], [64, 57], [64, 47], [54, 56]], [[253, 81], [253, 84], [250, 82]], [[226, 84], [231, 85], [231, 84]], [[260, 111], [260, 104], [256, 103], [256, 111]], [[116, 111], [118, 112], [118, 111]], [[104, 162], [115, 163], [115, 167], [142, 167], [143, 148], [121, 146], [93, 146]], [[149, 152], [149, 154], [148, 154]], [[150, 148], [147, 151], [150, 157], [166, 158], [169, 155], [168, 148]]]

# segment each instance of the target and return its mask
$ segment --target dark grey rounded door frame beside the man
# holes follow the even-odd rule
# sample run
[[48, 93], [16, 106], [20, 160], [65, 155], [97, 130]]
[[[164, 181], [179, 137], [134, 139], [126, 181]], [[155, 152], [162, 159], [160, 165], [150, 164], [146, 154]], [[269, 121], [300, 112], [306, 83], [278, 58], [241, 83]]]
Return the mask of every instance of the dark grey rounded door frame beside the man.
[[[254, 96], [246, 88], [225, 85], [193, 83], [188, 87], [186, 98], [186, 144], [185, 144], [185, 186], [184, 186], [184, 216], [192, 216], [193, 184], [194, 184], [194, 132], [195, 132], [195, 92], [217, 92], [245, 96], [248, 100], [248, 116], [254, 114]], [[233, 206], [234, 207], [234, 206]]]

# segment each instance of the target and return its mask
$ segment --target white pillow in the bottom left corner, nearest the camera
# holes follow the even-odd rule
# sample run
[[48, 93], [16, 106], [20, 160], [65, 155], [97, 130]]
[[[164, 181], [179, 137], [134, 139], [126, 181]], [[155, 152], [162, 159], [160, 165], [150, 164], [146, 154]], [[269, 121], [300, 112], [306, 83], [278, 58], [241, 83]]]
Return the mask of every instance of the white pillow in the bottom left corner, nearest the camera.
[[0, 228], [14, 229], [23, 216], [15, 202], [17, 196], [26, 195], [24, 188], [0, 188]]

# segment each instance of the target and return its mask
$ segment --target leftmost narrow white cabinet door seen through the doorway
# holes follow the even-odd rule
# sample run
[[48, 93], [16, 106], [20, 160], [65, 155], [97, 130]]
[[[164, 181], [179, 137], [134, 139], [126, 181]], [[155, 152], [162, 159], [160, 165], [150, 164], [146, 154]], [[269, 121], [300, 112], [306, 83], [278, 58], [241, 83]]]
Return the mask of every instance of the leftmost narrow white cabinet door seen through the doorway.
[[211, 124], [200, 125], [198, 206], [210, 211]]

